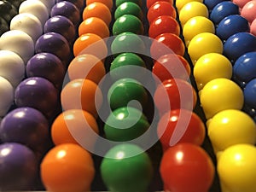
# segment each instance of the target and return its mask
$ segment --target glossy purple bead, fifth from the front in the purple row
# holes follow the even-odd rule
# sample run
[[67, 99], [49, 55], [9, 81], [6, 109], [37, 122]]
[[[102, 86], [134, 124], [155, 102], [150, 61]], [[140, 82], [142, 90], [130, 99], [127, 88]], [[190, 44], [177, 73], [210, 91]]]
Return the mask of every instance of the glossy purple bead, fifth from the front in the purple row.
[[36, 53], [51, 53], [60, 58], [64, 65], [70, 59], [71, 50], [67, 39], [56, 32], [47, 32], [40, 36], [35, 44]]

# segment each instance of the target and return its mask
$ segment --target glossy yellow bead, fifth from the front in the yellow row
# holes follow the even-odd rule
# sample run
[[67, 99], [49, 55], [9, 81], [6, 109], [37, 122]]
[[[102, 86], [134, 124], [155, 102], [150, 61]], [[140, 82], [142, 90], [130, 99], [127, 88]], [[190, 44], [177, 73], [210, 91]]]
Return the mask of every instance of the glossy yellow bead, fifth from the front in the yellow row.
[[208, 53], [222, 54], [223, 44], [218, 36], [210, 32], [202, 32], [191, 39], [188, 52], [192, 62], [195, 62]]

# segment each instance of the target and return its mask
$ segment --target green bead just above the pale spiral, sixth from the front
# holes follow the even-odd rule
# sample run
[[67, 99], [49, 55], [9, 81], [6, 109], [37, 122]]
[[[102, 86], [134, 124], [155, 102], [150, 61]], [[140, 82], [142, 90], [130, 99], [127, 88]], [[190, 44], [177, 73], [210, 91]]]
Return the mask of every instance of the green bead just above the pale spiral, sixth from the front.
[[144, 31], [143, 23], [137, 16], [122, 15], [113, 23], [113, 35], [119, 35], [122, 32], [133, 32], [142, 35]]

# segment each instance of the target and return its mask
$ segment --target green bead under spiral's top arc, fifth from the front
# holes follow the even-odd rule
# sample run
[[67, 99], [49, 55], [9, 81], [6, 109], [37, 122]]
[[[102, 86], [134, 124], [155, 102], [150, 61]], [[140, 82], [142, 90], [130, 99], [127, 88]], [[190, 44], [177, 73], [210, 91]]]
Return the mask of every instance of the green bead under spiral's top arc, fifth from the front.
[[113, 55], [119, 53], [145, 53], [145, 44], [142, 38], [132, 32], [122, 32], [113, 39], [111, 44], [111, 51]]

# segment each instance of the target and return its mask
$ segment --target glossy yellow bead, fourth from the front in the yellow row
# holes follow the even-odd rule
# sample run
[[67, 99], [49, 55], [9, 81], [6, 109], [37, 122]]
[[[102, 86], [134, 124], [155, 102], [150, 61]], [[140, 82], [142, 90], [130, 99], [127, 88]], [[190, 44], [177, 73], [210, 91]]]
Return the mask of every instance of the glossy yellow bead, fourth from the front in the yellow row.
[[218, 53], [202, 55], [196, 62], [193, 70], [197, 89], [201, 90], [209, 81], [218, 78], [231, 79], [232, 64]]

